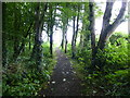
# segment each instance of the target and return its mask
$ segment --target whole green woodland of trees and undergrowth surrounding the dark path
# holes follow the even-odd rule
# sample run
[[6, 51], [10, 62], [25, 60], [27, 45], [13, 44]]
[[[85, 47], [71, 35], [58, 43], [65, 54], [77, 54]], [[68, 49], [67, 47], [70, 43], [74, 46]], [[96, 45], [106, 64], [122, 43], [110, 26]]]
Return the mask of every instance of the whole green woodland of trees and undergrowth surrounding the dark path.
[[[129, 16], [127, 2], [120, 2], [119, 13], [110, 20], [115, 2], [105, 2], [105, 12], [95, 2], [2, 2], [2, 96], [46, 95], [40, 91], [48, 88], [55, 65], [63, 65], [56, 49], [73, 64], [81, 96], [129, 96], [129, 36], [115, 32]], [[101, 15], [96, 36], [95, 19]], [[60, 46], [54, 44], [54, 28], [62, 30]]]

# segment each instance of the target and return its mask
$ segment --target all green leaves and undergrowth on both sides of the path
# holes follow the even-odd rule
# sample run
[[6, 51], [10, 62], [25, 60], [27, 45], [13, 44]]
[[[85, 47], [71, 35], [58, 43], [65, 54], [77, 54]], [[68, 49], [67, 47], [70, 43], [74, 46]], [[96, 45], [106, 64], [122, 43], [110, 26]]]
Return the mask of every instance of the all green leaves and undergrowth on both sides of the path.
[[[37, 96], [42, 87], [46, 88], [47, 82], [52, 74], [55, 60], [51, 58], [48, 42], [42, 44], [42, 52], [39, 52], [40, 50], [36, 49], [38, 50], [36, 51], [38, 52], [36, 56], [40, 56], [40, 53], [43, 56], [41, 65], [37, 65], [35, 60], [30, 60], [31, 52], [34, 53], [34, 41], [36, 41], [36, 37], [39, 36], [36, 35], [35, 28], [37, 25], [37, 5], [38, 3], [30, 2], [3, 3], [2, 46], [3, 60], [6, 61], [2, 70], [3, 96]], [[75, 69], [79, 74], [79, 77], [83, 81], [81, 85], [86, 87], [83, 90], [84, 95], [130, 95], [130, 70], [128, 65], [128, 63], [130, 63], [130, 58], [128, 58], [127, 36], [119, 33], [112, 35], [105, 50], [99, 50], [98, 52], [96, 59], [99, 64], [101, 64], [100, 66], [103, 68], [102, 71], [90, 73], [88, 69], [91, 66], [91, 41], [90, 32], [88, 30], [90, 24], [88, 21], [89, 2], [47, 3], [47, 7], [52, 7], [52, 9], [47, 8], [47, 12], [44, 12], [43, 9], [44, 3], [40, 2], [39, 5], [39, 17], [42, 17], [44, 14], [42, 26], [43, 30], [48, 30], [48, 37], [50, 36], [50, 28], [48, 29], [48, 26], [52, 24], [50, 17], [53, 19], [55, 27], [63, 28], [62, 21], [65, 22], [66, 19], [72, 21], [73, 16], [78, 15], [78, 8], [80, 8], [79, 19], [83, 23], [80, 34], [83, 35], [83, 46], [76, 48], [75, 60], [77, 62]], [[57, 10], [61, 12], [56, 12]], [[50, 11], [52, 11], [52, 15]], [[101, 9], [96, 5], [95, 12], [95, 16], [101, 16], [103, 14]], [[39, 21], [38, 23], [42, 22]], [[40, 28], [41, 27], [38, 27], [39, 30], [42, 30], [42, 28]], [[37, 45], [35, 47], [37, 47]], [[21, 47], [23, 47], [22, 50]], [[70, 44], [68, 44], [67, 49], [67, 53], [70, 56]], [[14, 59], [15, 54], [16, 59]], [[40, 68], [40, 70], [37, 68]]]

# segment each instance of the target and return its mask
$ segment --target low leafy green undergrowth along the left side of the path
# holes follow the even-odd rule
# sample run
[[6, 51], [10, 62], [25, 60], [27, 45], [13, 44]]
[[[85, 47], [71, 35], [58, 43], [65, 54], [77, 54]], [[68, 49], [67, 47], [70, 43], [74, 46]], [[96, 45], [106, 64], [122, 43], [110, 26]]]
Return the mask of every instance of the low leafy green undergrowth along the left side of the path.
[[23, 54], [17, 63], [10, 63], [8, 68], [3, 68], [3, 96], [37, 96], [40, 89], [47, 86], [55, 60], [50, 58], [48, 44], [42, 47], [44, 47], [44, 58], [41, 72], [36, 69], [32, 61], [26, 61], [27, 54]]

